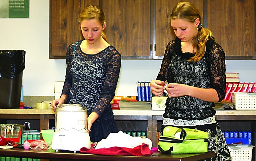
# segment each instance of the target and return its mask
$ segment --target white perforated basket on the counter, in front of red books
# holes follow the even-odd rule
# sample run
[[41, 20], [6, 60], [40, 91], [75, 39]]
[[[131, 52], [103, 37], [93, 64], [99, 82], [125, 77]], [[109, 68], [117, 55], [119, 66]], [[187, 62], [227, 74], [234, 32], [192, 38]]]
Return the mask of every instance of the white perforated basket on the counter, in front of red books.
[[256, 110], [256, 93], [232, 92], [236, 110]]

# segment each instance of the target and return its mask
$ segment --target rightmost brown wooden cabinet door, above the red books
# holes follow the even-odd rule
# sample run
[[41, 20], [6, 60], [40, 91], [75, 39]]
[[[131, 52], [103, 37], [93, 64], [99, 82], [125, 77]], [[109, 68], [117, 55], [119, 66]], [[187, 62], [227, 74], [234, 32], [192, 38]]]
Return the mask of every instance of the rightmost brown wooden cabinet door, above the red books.
[[255, 0], [208, 0], [208, 28], [226, 59], [255, 56]]

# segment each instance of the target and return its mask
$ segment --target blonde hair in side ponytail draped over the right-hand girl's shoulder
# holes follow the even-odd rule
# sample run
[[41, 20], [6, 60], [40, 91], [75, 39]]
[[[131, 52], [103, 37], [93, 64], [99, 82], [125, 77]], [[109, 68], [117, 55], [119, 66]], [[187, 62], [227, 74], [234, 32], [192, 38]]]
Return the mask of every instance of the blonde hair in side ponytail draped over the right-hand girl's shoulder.
[[191, 2], [183, 1], [174, 6], [171, 11], [170, 20], [176, 18], [181, 18], [192, 23], [199, 18], [200, 24], [198, 26], [198, 33], [192, 39], [193, 48], [196, 48], [196, 53], [195, 56], [191, 57], [188, 61], [200, 61], [206, 50], [205, 42], [209, 38], [214, 39], [213, 33], [202, 27], [202, 15], [199, 9]]

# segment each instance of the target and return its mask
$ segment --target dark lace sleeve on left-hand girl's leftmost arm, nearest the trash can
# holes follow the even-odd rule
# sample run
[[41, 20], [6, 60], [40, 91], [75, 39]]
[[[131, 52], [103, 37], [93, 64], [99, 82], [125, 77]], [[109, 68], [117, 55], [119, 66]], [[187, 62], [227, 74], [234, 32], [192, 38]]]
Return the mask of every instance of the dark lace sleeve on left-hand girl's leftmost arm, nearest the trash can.
[[71, 44], [67, 48], [67, 53], [66, 53], [66, 77], [64, 81], [64, 86], [62, 89], [61, 94], [66, 94], [67, 96], [69, 95], [70, 89], [72, 87], [72, 77], [71, 77], [71, 71], [70, 71], [70, 59], [71, 59], [71, 51], [74, 49], [74, 45]]

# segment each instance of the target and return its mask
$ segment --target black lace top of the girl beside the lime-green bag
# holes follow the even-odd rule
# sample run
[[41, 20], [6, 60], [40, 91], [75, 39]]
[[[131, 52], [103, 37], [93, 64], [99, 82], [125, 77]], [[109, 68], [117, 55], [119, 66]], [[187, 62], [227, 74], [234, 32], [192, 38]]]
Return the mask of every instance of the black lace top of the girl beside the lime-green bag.
[[[214, 88], [219, 101], [225, 97], [225, 53], [213, 39], [206, 42], [206, 51], [198, 62], [188, 62], [192, 53], [181, 51], [181, 40], [175, 38], [166, 47], [158, 80], [180, 83], [199, 88]], [[205, 119], [214, 116], [213, 102], [188, 95], [167, 98], [163, 116], [170, 119]]]

